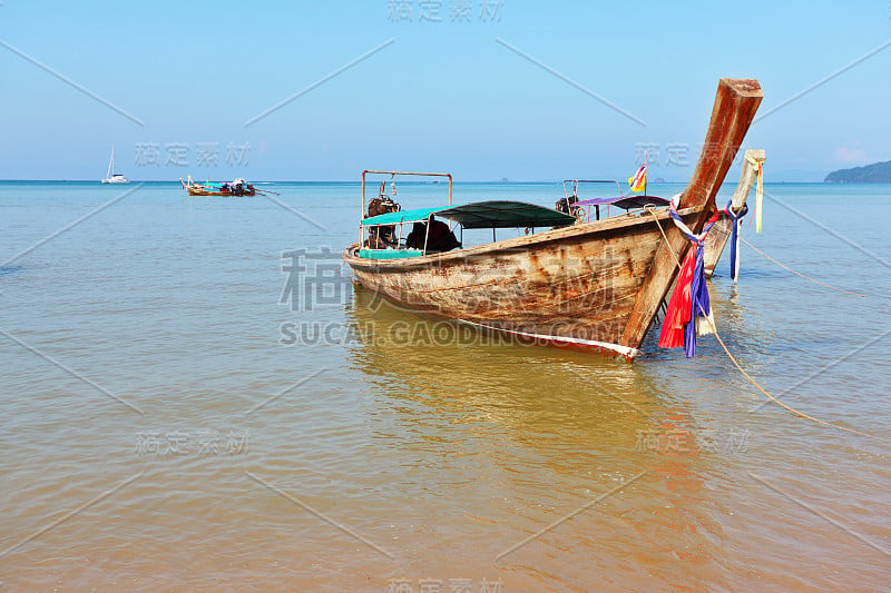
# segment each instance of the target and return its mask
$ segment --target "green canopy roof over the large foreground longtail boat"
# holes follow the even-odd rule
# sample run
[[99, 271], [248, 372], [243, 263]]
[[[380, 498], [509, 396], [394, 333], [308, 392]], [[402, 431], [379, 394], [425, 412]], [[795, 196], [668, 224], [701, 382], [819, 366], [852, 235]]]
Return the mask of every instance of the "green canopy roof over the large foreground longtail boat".
[[464, 228], [566, 227], [576, 221], [572, 216], [535, 204], [492, 200], [477, 201], [464, 206], [419, 208], [382, 214], [365, 218], [362, 224], [365, 226], [396, 225], [427, 220], [430, 215], [454, 220]]

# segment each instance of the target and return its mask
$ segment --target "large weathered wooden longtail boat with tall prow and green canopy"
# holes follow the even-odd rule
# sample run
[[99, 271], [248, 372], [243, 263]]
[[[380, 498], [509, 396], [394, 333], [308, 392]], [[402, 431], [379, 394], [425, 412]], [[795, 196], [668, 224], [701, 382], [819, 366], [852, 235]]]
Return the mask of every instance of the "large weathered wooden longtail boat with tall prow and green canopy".
[[[715, 196], [761, 99], [756, 80], [718, 82], [703, 152], [677, 206], [694, 233], [715, 211]], [[360, 224], [359, 243], [343, 253], [359, 284], [403, 307], [537, 343], [630, 360], [691, 245], [667, 209], [584, 224], [519, 202], [369, 213], [365, 172], [362, 213], [370, 216]], [[427, 245], [407, 249], [380, 243], [388, 227], [424, 218], [432, 223], [433, 216], [459, 223], [462, 233], [489, 226], [493, 233], [498, 227], [554, 228], [446, 253], [430, 253]], [[370, 229], [376, 230], [364, 241]]]

